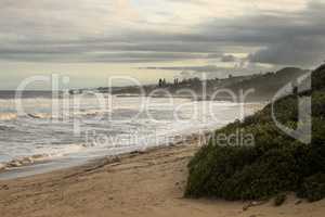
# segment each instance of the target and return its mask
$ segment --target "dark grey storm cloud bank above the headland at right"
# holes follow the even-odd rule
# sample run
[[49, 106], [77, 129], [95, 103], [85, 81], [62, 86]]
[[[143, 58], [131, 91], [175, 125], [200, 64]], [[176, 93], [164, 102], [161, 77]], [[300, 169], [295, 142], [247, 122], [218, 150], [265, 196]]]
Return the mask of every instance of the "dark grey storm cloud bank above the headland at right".
[[[205, 42], [206, 48], [236, 52], [258, 49], [251, 62], [312, 66], [325, 60], [325, 2], [311, 1], [307, 9], [291, 13], [269, 12], [234, 20], [202, 24], [199, 34], [170, 36], [167, 40]], [[205, 47], [203, 47], [204, 49]], [[245, 49], [244, 49], [245, 50]], [[221, 61], [233, 61], [221, 56]]]

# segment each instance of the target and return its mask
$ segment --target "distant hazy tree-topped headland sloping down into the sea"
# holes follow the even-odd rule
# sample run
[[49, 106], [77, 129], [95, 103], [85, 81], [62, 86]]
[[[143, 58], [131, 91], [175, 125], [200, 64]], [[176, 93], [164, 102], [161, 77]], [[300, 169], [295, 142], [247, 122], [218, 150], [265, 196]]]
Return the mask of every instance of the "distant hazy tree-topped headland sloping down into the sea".
[[[223, 79], [208, 79], [200, 80], [199, 78], [187, 79], [174, 79], [173, 82], [168, 82], [166, 79], [160, 78], [157, 85], [144, 85], [144, 86], [127, 86], [127, 87], [100, 87], [92, 89], [95, 92], [112, 93], [115, 95], [153, 95], [153, 97], [166, 97], [166, 91], [174, 97], [187, 97], [193, 98], [195, 92], [198, 99], [202, 99], [203, 92], [207, 93], [207, 99], [211, 100], [226, 100], [233, 101], [226, 91], [220, 91], [226, 89], [231, 90], [235, 95], [240, 95], [240, 91], [246, 92], [252, 89], [253, 92], [249, 93], [245, 99], [248, 101], [269, 101], [273, 98], [278, 89], [295, 80], [297, 77], [304, 75], [308, 71], [286, 67], [276, 73], [269, 72], [266, 74], [255, 74], [246, 76], [230, 76]], [[161, 90], [161, 91], [158, 91]], [[184, 91], [185, 90], [185, 91]], [[193, 92], [188, 92], [192, 90]], [[80, 94], [82, 92], [91, 91], [91, 89], [70, 90], [70, 94]], [[217, 95], [214, 93], [218, 92]], [[239, 99], [236, 99], [239, 100]]]

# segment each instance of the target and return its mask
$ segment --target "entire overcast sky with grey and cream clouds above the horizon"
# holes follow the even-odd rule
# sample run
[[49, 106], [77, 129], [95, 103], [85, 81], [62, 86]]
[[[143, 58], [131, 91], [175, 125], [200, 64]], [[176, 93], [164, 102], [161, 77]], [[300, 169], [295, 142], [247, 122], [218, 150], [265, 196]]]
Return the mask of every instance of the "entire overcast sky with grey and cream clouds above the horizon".
[[1, 0], [0, 89], [51, 74], [82, 88], [312, 68], [325, 60], [324, 11], [325, 0]]

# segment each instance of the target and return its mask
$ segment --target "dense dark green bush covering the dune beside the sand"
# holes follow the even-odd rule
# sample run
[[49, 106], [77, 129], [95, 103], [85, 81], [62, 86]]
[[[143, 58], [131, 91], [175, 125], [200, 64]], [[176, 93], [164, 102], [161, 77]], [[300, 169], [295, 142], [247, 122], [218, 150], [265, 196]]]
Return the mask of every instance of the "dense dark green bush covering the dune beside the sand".
[[[271, 105], [217, 130], [231, 135], [243, 129], [255, 145], [221, 145], [210, 139], [188, 164], [185, 196], [258, 200], [294, 191], [310, 201], [325, 197], [325, 66], [312, 73], [312, 142], [300, 143], [282, 132], [271, 117]], [[275, 102], [275, 116], [297, 126], [298, 101], [288, 95]]]

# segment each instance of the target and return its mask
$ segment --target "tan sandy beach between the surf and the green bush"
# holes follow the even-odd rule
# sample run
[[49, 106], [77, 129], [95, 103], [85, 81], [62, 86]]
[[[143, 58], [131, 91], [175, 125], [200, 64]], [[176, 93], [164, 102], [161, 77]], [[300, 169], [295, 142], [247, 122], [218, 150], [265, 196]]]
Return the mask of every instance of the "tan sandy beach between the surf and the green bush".
[[[186, 164], [197, 139], [98, 159], [84, 166], [0, 181], [0, 216], [213, 216], [322, 217], [325, 201], [308, 203], [289, 195], [283, 206], [249, 202], [183, 199]], [[246, 209], [246, 210], [244, 210]]]

